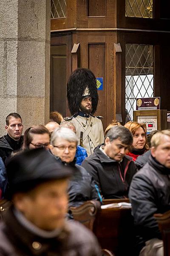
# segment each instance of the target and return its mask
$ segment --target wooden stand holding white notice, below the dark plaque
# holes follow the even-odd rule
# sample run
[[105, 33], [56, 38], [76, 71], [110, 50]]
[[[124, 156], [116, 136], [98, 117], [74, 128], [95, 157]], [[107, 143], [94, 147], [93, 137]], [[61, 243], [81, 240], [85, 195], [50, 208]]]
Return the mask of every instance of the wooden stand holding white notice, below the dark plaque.
[[154, 130], [165, 130], [167, 129], [167, 110], [133, 111], [133, 121], [146, 124], [147, 134]]

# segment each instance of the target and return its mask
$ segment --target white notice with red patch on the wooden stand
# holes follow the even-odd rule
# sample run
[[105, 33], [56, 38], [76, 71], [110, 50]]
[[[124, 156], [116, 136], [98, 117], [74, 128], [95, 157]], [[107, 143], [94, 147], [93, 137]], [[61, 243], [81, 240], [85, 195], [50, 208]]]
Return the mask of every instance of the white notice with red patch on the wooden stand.
[[151, 131], [157, 130], [156, 116], [138, 116], [138, 122], [146, 124], [147, 134], [151, 133]]

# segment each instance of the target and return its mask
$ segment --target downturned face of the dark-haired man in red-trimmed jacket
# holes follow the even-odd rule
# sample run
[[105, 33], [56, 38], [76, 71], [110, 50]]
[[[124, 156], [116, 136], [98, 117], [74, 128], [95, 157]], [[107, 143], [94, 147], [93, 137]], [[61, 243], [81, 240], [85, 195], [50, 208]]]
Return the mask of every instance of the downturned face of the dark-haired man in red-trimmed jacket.
[[110, 141], [108, 137], [105, 139], [104, 151], [108, 157], [115, 161], [120, 162], [127, 153], [128, 149], [129, 145], [123, 144], [119, 139], [113, 141]]

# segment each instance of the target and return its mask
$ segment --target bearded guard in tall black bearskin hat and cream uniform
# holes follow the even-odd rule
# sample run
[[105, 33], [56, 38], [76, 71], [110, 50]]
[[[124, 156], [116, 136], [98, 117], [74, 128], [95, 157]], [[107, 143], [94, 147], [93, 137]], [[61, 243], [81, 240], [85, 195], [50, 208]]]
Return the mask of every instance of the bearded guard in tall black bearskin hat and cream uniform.
[[76, 127], [76, 134], [80, 146], [84, 147], [88, 156], [93, 154], [94, 148], [104, 142], [102, 116], [94, 116], [99, 96], [96, 78], [91, 70], [78, 68], [71, 74], [67, 83], [68, 106], [71, 121]]

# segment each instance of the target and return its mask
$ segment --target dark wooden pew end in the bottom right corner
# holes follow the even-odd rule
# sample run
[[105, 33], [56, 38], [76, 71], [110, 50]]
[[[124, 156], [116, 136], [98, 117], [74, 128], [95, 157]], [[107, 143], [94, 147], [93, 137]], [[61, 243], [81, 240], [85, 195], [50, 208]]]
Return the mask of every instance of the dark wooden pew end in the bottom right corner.
[[170, 256], [170, 211], [154, 214], [164, 242], [164, 256]]

